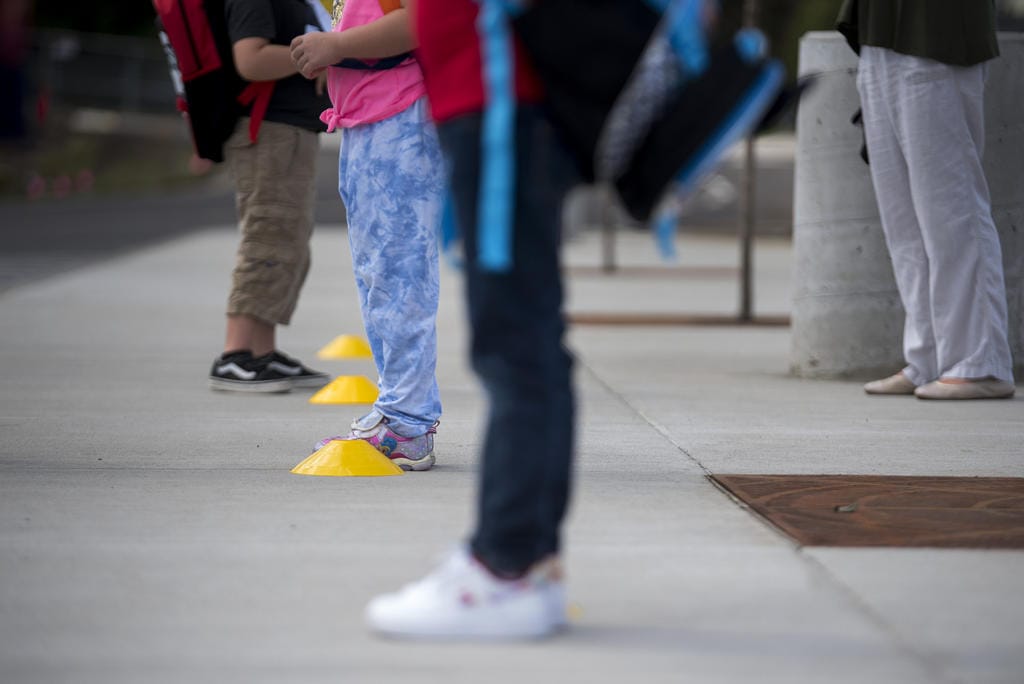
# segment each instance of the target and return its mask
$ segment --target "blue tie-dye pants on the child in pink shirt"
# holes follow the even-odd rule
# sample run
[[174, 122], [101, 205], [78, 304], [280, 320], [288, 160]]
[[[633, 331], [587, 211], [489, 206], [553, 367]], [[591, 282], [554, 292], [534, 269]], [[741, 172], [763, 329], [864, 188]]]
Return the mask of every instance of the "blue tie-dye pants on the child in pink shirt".
[[421, 435], [441, 412], [434, 369], [444, 193], [444, 165], [424, 100], [342, 133], [339, 190], [362, 323], [380, 375], [374, 410], [395, 433]]

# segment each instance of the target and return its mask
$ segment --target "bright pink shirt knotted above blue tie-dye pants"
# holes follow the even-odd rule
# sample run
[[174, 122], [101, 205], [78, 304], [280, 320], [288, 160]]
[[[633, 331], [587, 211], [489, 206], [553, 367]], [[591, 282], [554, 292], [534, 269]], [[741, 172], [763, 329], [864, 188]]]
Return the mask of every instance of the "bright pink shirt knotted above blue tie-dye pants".
[[[383, 15], [378, 0], [348, 0], [334, 30], [345, 31]], [[423, 72], [415, 59], [381, 71], [330, 67], [327, 83], [332, 106], [321, 121], [329, 133], [339, 126], [351, 128], [393, 117], [426, 94]]]

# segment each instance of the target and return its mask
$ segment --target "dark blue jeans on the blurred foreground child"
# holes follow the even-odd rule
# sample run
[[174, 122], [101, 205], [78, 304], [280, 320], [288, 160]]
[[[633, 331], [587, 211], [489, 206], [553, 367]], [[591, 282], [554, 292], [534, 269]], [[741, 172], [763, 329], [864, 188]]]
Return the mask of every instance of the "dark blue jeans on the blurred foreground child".
[[572, 358], [563, 345], [559, 265], [561, 204], [574, 172], [540, 112], [516, 121], [513, 266], [476, 260], [480, 117], [439, 127], [466, 252], [472, 366], [489, 400], [473, 554], [516, 575], [557, 553], [569, 499], [574, 407]]

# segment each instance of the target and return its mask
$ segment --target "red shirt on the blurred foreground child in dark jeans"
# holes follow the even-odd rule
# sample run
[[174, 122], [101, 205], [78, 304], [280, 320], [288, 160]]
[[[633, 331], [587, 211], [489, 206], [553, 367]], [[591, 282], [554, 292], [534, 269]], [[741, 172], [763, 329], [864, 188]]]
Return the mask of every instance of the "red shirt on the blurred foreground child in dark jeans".
[[[414, 30], [434, 121], [443, 122], [483, 109], [480, 39], [475, 0], [415, 0]], [[541, 84], [519, 46], [515, 55], [516, 96], [541, 99]]]

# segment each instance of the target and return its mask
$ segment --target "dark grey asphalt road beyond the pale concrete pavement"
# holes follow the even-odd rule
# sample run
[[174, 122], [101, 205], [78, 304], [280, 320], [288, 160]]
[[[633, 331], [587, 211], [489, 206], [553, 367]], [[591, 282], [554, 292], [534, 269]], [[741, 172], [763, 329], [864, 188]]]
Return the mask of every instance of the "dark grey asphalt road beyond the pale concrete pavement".
[[[792, 142], [783, 138], [781, 147], [769, 146], [759, 162], [759, 234], [785, 236], [792, 230]], [[337, 149], [325, 145], [317, 161], [318, 225], [344, 222], [336, 158]], [[693, 198], [683, 229], [736, 232], [742, 178], [738, 159], [728, 159]], [[223, 174], [173, 194], [0, 203], [0, 292], [234, 221], [230, 183]]]

